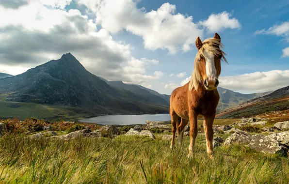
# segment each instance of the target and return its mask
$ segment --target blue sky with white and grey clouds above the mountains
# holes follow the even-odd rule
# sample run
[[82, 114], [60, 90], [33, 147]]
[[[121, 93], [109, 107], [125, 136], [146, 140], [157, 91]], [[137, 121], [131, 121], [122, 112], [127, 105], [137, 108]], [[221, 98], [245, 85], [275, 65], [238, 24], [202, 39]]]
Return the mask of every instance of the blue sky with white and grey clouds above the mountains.
[[91, 73], [170, 94], [193, 71], [196, 38], [217, 32], [220, 87], [289, 85], [288, 0], [0, 0], [0, 72], [70, 52]]

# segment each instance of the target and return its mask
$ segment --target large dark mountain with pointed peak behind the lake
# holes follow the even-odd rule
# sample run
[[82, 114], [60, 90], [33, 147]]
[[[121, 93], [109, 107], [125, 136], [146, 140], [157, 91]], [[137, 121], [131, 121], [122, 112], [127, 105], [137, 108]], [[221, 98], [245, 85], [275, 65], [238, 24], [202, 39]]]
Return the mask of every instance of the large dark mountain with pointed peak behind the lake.
[[0, 79], [0, 93], [7, 101], [82, 107], [91, 114], [168, 112], [159, 96], [133, 93], [108, 85], [88, 72], [70, 53], [59, 60]]

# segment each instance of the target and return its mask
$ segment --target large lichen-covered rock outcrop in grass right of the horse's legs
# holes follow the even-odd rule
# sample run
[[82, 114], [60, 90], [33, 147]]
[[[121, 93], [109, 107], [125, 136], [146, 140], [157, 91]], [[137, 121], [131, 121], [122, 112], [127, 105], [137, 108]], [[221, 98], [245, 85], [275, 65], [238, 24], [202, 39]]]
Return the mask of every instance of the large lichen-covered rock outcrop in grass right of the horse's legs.
[[226, 138], [224, 145], [241, 144], [258, 152], [287, 154], [288, 149], [279, 141], [271, 137], [261, 135], [250, 135], [245, 132], [235, 132]]

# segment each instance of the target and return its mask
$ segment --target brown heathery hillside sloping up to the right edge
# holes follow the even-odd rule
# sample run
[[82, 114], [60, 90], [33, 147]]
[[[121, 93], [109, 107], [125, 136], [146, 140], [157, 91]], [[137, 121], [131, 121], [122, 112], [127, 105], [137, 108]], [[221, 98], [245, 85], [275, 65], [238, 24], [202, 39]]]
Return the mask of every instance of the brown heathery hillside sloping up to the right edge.
[[218, 118], [241, 118], [272, 111], [289, 109], [289, 86], [261, 97], [221, 110]]

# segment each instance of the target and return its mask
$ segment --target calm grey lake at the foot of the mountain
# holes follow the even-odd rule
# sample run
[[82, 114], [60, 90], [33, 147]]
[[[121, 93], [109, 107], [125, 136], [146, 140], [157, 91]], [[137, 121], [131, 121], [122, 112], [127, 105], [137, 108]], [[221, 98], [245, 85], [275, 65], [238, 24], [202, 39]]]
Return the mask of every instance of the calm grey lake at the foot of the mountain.
[[142, 114], [142, 115], [105, 115], [93, 118], [81, 119], [80, 122], [97, 123], [103, 125], [119, 124], [145, 124], [145, 121], [169, 121], [170, 114]]

